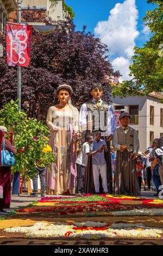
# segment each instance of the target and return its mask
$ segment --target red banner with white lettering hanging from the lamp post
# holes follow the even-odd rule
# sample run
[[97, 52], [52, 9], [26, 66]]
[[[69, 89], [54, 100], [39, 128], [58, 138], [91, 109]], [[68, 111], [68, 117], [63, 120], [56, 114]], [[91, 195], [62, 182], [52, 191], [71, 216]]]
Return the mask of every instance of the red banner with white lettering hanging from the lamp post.
[[29, 67], [32, 26], [7, 23], [7, 63], [9, 66]]

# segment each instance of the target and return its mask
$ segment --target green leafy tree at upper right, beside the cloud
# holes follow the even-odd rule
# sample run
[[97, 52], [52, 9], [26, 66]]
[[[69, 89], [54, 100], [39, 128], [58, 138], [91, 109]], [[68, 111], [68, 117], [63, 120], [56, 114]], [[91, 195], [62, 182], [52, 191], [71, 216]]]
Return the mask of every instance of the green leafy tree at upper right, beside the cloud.
[[123, 81], [120, 86], [112, 86], [114, 96], [147, 95], [163, 90], [163, 1], [148, 0], [148, 3], [158, 5], [154, 10], [147, 11], [143, 18], [152, 36], [143, 47], [134, 48], [129, 74], [134, 78]]

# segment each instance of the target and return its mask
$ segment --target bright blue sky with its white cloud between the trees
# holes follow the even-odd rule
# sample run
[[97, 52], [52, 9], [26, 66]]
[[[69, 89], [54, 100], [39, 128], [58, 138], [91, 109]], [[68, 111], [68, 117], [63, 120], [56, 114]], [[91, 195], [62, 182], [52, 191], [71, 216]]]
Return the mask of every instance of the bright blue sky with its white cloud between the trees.
[[149, 40], [151, 32], [143, 24], [146, 11], [155, 5], [147, 0], [66, 0], [75, 13], [76, 30], [83, 25], [108, 46], [114, 70], [120, 70], [120, 81], [128, 76], [134, 46], [141, 47]]

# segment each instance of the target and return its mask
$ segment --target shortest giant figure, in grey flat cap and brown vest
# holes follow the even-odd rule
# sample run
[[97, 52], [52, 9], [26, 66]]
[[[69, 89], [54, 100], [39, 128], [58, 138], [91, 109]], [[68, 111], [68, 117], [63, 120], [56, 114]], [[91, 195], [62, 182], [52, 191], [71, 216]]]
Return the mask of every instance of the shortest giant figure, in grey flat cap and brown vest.
[[139, 138], [129, 125], [130, 114], [120, 115], [121, 126], [114, 133], [112, 145], [117, 150], [115, 194], [139, 195], [140, 188], [136, 174], [135, 157], [139, 150]]

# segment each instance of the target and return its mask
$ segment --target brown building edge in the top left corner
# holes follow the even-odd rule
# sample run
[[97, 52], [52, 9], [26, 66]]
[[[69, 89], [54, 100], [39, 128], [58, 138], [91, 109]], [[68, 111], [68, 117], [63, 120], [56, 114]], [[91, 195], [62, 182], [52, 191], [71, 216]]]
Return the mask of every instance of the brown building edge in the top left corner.
[[17, 4], [15, 0], [0, 0], [0, 32], [5, 31], [6, 22], [9, 19], [9, 14], [16, 10]]

